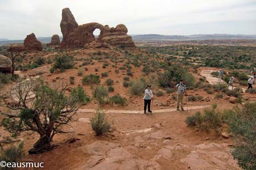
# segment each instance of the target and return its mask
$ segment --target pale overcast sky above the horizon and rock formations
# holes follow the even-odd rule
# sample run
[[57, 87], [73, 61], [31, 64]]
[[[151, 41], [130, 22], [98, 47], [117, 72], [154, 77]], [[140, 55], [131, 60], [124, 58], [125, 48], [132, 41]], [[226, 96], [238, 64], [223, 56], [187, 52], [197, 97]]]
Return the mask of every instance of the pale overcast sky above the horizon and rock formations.
[[0, 0], [0, 39], [59, 34], [61, 10], [77, 23], [123, 23], [129, 34], [256, 35], [256, 0]]

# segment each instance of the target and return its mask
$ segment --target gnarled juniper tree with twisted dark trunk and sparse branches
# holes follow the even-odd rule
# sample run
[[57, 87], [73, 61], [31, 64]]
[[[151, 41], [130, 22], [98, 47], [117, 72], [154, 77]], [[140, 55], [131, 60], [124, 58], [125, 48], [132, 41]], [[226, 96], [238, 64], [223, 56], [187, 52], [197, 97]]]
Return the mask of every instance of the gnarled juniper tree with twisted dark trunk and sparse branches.
[[[19, 135], [23, 131], [34, 131], [40, 135], [28, 151], [36, 154], [52, 148], [55, 134], [69, 133], [69, 122], [77, 112], [77, 96], [66, 94], [67, 86], [47, 86], [42, 80], [18, 83], [12, 90], [16, 102], [3, 99], [3, 106], [10, 112], [1, 112], [2, 125], [7, 131]], [[69, 127], [68, 127], [69, 128]]]

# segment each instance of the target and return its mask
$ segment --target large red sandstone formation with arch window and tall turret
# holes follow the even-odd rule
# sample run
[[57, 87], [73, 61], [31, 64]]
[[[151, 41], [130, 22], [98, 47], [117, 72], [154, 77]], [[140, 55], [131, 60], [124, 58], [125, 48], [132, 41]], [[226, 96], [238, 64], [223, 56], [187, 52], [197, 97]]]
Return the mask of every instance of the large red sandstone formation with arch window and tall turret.
[[[99, 23], [78, 25], [69, 8], [62, 10], [60, 28], [63, 33], [63, 40], [61, 41], [61, 48], [63, 49], [84, 47], [93, 41], [105, 42], [117, 47], [136, 47], [131, 36], [127, 35], [127, 28], [124, 24], [118, 24], [115, 28]], [[93, 35], [95, 29], [101, 31], [98, 39]]]

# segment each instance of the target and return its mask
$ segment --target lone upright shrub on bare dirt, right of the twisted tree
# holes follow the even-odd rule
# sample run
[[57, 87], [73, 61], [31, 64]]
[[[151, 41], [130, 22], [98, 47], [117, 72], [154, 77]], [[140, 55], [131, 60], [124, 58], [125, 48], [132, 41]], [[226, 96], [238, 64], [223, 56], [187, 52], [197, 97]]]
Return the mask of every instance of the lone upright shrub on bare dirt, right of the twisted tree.
[[94, 117], [90, 121], [92, 129], [95, 131], [96, 135], [101, 135], [109, 132], [110, 123], [104, 111], [97, 109]]

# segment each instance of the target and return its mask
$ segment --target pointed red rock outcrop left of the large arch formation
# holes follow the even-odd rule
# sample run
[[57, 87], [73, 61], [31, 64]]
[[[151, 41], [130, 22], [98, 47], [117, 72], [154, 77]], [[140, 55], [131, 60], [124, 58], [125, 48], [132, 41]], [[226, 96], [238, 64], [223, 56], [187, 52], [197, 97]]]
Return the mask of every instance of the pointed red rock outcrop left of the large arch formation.
[[34, 33], [27, 35], [26, 39], [24, 40], [24, 49], [25, 50], [37, 50], [42, 51], [42, 43], [36, 39]]

